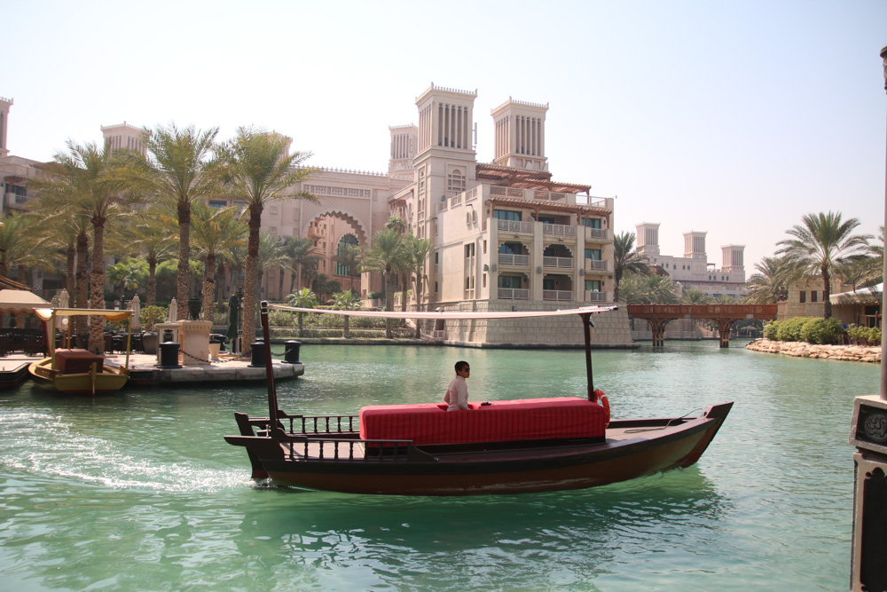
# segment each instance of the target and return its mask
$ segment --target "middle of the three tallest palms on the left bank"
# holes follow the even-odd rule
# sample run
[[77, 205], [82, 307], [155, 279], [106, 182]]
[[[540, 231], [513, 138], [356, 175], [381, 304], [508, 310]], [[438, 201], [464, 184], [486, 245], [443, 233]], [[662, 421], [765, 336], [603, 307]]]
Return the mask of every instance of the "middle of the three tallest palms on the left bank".
[[216, 195], [218, 189], [217, 162], [210, 161], [216, 147], [218, 128], [197, 130], [193, 125], [180, 130], [175, 123], [169, 127], [157, 126], [147, 135], [147, 158], [130, 154], [127, 167], [118, 171], [134, 190], [159, 198], [176, 208], [178, 221], [178, 273], [176, 299], [178, 318], [185, 319], [188, 309], [184, 303], [189, 293], [191, 270], [191, 209], [196, 200]]

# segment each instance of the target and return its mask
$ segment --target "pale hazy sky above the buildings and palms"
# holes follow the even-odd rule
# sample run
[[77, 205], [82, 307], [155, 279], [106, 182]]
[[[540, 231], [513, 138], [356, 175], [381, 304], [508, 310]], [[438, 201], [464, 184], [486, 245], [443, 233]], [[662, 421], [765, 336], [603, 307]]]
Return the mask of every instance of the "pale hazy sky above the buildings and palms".
[[101, 125], [278, 130], [310, 164], [388, 170], [389, 125], [434, 82], [491, 108], [549, 103], [553, 178], [707, 231], [746, 273], [808, 212], [883, 224], [887, 2], [8, 2], [0, 96], [12, 154], [51, 160]]

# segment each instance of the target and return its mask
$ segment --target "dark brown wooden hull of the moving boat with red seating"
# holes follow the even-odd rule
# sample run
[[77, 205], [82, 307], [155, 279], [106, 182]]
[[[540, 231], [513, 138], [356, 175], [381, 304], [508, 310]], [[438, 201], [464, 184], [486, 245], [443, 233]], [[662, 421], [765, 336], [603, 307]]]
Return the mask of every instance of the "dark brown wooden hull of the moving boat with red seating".
[[[477, 495], [583, 489], [694, 464], [709, 446], [732, 403], [709, 407], [697, 418], [612, 422], [605, 442], [416, 446], [402, 460], [295, 458], [267, 437], [226, 437], [246, 446], [254, 477], [342, 493]], [[241, 433], [243, 430], [241, 430]], [[611, 435], [617, 438], [610, 438]], [[284, 454], [281, 454], [281, 451]]]

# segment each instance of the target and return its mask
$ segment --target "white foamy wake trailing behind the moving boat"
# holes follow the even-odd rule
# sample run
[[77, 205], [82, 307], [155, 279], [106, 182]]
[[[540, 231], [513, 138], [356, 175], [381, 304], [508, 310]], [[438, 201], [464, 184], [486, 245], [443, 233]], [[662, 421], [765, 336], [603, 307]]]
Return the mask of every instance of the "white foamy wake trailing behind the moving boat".
[[[33, 412], [0, 414], [0, 430], [9, 436], [0, 446], [4, 472], [32, 475], [112, 489], [168, 493], [216, 493], [241, 489], [252, 481], [242, 470], [200, 461], [169, 462], [134, 454], [99, 434], [74, 429], [59, 416]], [[181, 458], [175, 455], [175, 458]]]

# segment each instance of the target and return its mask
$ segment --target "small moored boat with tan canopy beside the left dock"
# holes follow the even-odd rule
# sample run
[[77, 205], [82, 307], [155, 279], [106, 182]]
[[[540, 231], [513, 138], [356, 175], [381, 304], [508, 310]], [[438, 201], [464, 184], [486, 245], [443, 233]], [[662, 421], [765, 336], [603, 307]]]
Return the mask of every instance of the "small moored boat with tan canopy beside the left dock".
[[37, 316], [45, 321], [50, 355], [32, 363], [27, 369], [35, 384], [43, 389], [67, 394], [96, 395], [101, 392], [120, 391], [130, 380], [131, 330], [127, 331], [126, 360], [122, 366], [80, 349], [56, 349], [55, 326], [58, 317], [101, 315], [106, 320], [131, 320], [132, 311], [107, 309], [54, 308], [38, 309]]

